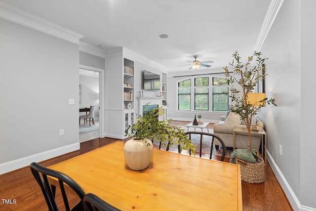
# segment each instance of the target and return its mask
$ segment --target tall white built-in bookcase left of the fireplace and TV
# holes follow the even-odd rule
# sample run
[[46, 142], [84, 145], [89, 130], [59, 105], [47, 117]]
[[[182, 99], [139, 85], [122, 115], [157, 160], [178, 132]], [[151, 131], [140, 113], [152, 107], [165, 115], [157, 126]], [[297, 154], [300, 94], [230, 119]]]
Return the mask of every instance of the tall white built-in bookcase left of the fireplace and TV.
[[135, 120], [134, 64], [134, 61], [124, 56], [124, 50], [107, 58], [106, 137], [125, 139], [125, 130]]

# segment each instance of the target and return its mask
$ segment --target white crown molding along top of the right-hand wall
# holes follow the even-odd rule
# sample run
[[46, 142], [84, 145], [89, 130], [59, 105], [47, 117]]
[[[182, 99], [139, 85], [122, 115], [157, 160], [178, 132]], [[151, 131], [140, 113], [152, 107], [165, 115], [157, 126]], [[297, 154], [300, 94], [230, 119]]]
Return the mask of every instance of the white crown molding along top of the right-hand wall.
[[263, 42], [266, 40], [267, 35], [271, 29], [273, 22], [276, 19], [276, 15], [278, 11], [280, 10], [283, 1], [284, 0], [271, 0], [266, 17], [261, 27], [261, 31], [260, 31], [256, 46], [255, 46], [256, 51], [260, 51], [263, 45]]

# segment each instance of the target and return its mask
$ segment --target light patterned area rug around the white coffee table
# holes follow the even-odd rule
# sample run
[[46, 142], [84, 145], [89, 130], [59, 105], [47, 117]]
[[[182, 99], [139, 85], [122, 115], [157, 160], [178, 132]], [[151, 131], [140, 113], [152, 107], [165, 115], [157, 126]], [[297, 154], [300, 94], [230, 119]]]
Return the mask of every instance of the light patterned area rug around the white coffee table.
[[[185, 129], [185, 131], [187, 131], [187, 127], [182, 127], [183, 129]], [[194, 131], [194, 128], [190, 128], [189, 131]], [[198, 129], [197, 129], [198, 130]], [[207, 129], [204, 129], [204, 132], [207, 132]], [[209, 129], [210, 133], [213, 133], [213, 129]], [[191, 135], [191, 140], [194, 146], [196, 146], [195, 149], [195, 154], [196, 156], [199, 156], [199, 148], [200, 148], [200, 136], [198, 134], [192, 134]], [[211, 141], [212, 138], [211, 136], [203, 136], [203, 141], [202, 141], [202, 157], [209, 157], [209, 154], [211, 152]], [[167, 143], [166, 143], [167, 144]], [[159, 141], [154, 141], [154, 145], [156, 145], [156, 147], [159, 146]], [[155, 147], [155, 148], [156, 148]], [[161, 149], [165, 149], [166, 147], [161, 147]], [[170, 146], [170, 151], [177, 151], [178, 146], [177, 145], [172, 145]], [[230, 158], [231, 157], [231, 153], [232, 153], [233, 149], [230, 147], [226, 147], [226, 153], [225, 153], [225, 157]], [[185, 154], [188, 154], [188, 152], [183, 152]], [[212, 155], [216, 155], [216, 156], [221, 156], [223, 153], [223, 148], [220, 146], [218, 150], [216, 150], [215, 145], [213, 146], [213, 152]]]

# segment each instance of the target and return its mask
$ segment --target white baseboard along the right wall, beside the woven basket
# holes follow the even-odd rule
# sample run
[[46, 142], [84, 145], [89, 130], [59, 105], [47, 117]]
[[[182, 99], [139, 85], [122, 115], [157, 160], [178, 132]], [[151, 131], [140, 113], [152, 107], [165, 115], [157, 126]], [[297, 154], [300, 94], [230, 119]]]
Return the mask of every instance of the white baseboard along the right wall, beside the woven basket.
[[281, 185], [281, 187], [282, 187], [282, 189], [283, 189], [288, 201], [290, 202], [293, 210], [294, 211], [316, 211], [316, 208], [311, 208], [311, 207], [307, 207], [307, 206], [301, 205], [300, 201], [296, 197], [296, 195], [293, 192], [291, 186], [286, 181], [286, 179], [285, 179], [284, 175], [282, 174], [281, 170], [276, 165], [276, 162], [272, 158], [272, 156], [269, 153], [269, 151], [267, 151], [267, 159], [269, 161], [269, 164], [270, 164], [273, 172], [276, 175], [276, 179], [280, 183], [280, 185]]

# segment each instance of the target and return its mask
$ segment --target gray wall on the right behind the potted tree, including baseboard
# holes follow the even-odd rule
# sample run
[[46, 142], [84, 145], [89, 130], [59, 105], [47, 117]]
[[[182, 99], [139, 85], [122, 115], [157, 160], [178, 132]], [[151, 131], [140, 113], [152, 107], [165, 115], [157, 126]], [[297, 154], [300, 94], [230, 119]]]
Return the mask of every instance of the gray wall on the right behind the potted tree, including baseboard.
[[[294, 210], [316, 209], [315, 112], [311, 109], [316, 73], [314, 0], [286, 0], [261, 51], [267, 60], [267, 97], [276, 98], [259, 115], [268, 134], [274, 169]], [[282, 146], [282, 155], [279, 154]], [[312, 157], [313, 156], [313, 157]], [[306, 206], [306, 207], [305, 207]]]

